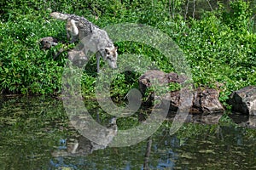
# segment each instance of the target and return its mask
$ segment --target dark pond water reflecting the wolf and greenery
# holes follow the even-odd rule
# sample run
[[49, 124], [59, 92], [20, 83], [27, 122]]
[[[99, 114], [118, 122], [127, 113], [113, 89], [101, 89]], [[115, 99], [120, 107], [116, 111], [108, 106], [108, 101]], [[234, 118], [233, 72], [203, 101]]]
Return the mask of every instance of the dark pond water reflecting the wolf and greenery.
[[[150, 139], [103, 149], [76, 132], [61, 100], [2, 97], [0, 101], [1, 170], [256, 169], [256, 130], [237, 126], [227, 116], [213, 125], [184, 124], [172, 136], [171, 123], [164, 122]], [[110, 118], [96, 116], [93, 102], [88, 107], [99, 122]], [[129, 124], [123, 121], [118, 120], [117, 126]]]

